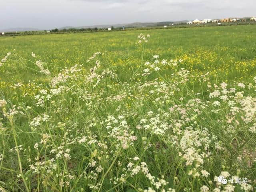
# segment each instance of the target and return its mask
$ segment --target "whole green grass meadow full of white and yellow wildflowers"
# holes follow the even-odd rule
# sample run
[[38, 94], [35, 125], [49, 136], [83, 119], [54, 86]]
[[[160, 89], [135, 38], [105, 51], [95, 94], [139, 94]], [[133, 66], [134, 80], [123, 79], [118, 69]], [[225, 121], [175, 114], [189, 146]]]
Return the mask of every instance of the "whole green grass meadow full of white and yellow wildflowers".
[[256, 190], [255, 25], [1, 37], [1, 58], [0, 191]]

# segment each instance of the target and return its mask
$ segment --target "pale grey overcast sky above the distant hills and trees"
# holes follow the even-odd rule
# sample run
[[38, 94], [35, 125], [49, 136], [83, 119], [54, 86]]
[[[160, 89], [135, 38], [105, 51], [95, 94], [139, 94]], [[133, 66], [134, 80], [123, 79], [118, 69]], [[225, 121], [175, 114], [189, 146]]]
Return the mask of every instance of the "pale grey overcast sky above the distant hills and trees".
[[0, 29], [256, 16], [256, 0], [0, 0]]

